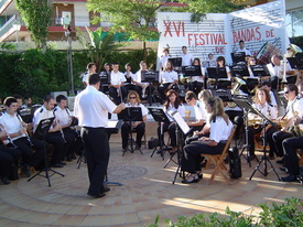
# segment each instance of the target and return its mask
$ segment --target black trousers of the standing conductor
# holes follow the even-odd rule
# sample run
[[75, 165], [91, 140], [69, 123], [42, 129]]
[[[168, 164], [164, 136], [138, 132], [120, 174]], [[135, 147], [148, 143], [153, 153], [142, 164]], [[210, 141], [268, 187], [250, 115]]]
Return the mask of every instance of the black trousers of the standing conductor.
[[104, 191], [104, 180], [109, 161], [109, 142], [105, 128], [82, 129], [89, 177], [88, 193], [99, 194]]

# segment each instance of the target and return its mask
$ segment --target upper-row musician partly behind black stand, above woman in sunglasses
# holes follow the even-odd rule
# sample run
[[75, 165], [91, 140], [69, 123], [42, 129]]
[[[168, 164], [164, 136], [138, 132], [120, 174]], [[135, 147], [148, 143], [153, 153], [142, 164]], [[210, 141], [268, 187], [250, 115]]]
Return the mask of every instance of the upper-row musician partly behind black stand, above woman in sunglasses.
[[[140, 69], [133, 76], [133, 83], [137, 86], [137, 93], [139, 94], [140, 98], [144, 98], [147, 95], [147, 88], [150, 86], [151, 94], [154, 91], [154, 86], [150, 83], [142, 82], [142, 74], [148, 71], [148, 65], [144, 61], [140, 62]], [[150, 94], [150, 95], [151, 95]]]

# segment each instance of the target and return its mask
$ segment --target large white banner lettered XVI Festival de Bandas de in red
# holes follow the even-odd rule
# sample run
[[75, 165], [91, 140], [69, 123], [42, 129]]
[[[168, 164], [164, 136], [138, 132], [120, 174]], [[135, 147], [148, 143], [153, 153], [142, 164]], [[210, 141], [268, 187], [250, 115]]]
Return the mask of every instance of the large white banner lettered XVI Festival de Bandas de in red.
[[187, 46], [188, 53], [201, 61], [213, 53], [215, 58], [225, 56], [227, 63], [231, 64], [230, 53], [238, 50], [240, 40], [255, 55], [267, 42], [285, 53], [289, 39], [284, 19], [284, 0], [228, 14], [207, 13], [199, 23], [191, 22], [191, 13], [159, 12], [158, 57], [161, 57], [163, 47], [170, 47], [170, 55], [178, 57], [182, 46]]

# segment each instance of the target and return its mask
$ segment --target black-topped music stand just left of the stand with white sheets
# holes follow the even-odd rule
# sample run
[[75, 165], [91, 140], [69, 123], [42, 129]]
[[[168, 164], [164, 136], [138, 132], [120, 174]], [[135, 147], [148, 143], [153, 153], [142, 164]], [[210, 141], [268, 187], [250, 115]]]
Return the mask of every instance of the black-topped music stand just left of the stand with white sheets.
[[[159, 138], [159, 145], [156, 145], [153, 149], [153, 152], [151, 154], [151, 158], [153, 156], [154, 152], [160, 152], [162, 159], [164, 160], [164, 149], [163, 147], [165, 147], [165, 150], [169, 150], [167, 147], [164, 144], [163, 141], [163, 123], [170, 123], [170, 119], [167, 118], [166, 114], [163, 111], [163, 109], [160, 108], [149, 108], [150, 114], [152, 115], [153, 119], [155, 121], [158, 121], [158, 125], [160, 127], [160, 138]], [[158, 150], [158, 147], [160, 147], [160, 150]]]

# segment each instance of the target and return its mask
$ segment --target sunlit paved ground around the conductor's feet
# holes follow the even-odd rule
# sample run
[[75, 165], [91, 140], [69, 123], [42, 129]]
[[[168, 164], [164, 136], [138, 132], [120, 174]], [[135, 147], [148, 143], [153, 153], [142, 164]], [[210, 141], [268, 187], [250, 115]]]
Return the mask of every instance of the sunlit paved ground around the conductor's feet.
[[[154, 131], [155, 127], [154, 122], [149, 123], [148, 129]], [[164, 161], [160, 155], [150, 158], [152, 151], [147, 149], [142, 150], [143, 155], [136, 151], [122, 156], [120, 147], [120, 134], [116, 134], [111, 138], [108, 173], [109, 181], [120, 182], [123, 186], [111, 186], [104, 198], [88, 197], [86, 164], [77, 169], [75, 161], [56, 169], [65, 177], [53, 175], [51, 187], [44, 177], [31, 182], [22, 177], [10, 185], [0, 185], [0, 226], [136, 227], [153, 223], [156, 215], [164, 225], [165, 218], [176, 220], [182, 215], [224, 213], [227, 206], [236, 212], [258, 214], [257, 204], [282, 203], [284, 198], [303, 193], [302, 185], [279, 182], [273, 172], [268, 177], [256, 173], [252, 181], [248, 181], [253, 167], [249, 167], [244, 159], [244, 176], [231, 185], [221, 177], [207, 185], [212, 166], [205, 171], [204, 180], [196, 184], [181, 184], [177, 177], [173, 185], [176, 165], [170, 163], [163, 169]], [[252, 162], [252, 166], [256, 164]], [[284, 175], [279, 170], [278, 173]]]

